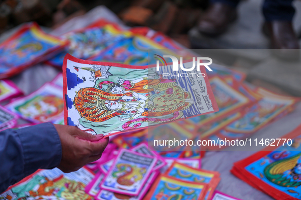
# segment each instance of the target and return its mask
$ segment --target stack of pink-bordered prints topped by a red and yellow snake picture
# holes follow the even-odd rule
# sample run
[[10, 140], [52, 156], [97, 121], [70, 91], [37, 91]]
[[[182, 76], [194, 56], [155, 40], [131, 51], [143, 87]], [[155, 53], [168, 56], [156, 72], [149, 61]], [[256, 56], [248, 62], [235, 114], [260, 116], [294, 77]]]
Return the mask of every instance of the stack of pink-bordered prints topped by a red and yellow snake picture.
[[96, 175], [86, 192], [96, 199], [142, 199], [165, 163], [145, 147], [141, 144], [131, 150], [120, 149], [115, 158], [98, 165], [104, 170]]

